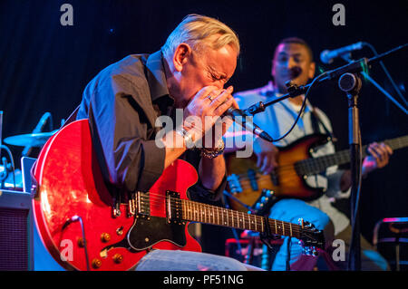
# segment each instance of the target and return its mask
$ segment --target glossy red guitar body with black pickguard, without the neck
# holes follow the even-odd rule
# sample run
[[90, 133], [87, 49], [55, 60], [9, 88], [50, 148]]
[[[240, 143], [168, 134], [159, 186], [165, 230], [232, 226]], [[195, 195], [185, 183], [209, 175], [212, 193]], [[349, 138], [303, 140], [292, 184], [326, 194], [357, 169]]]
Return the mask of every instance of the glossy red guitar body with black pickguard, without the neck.
[[176, 160], [150, 189], [159, 200], [147, 203], [149, 216], [130, 216], [129, 206], [121, 204], [121, 216], [112, 217], [114, 200], [92, 149], [88, 120], [76, 120], [44, 145], [34, 178], [36, 226], [44, 246], [66, 269], [128, 270], [152, 248], [201, 251], [188, 223], [169, 224], [166, 216], [166, 191], [186, 199], [198, 179], [185, 161]]

